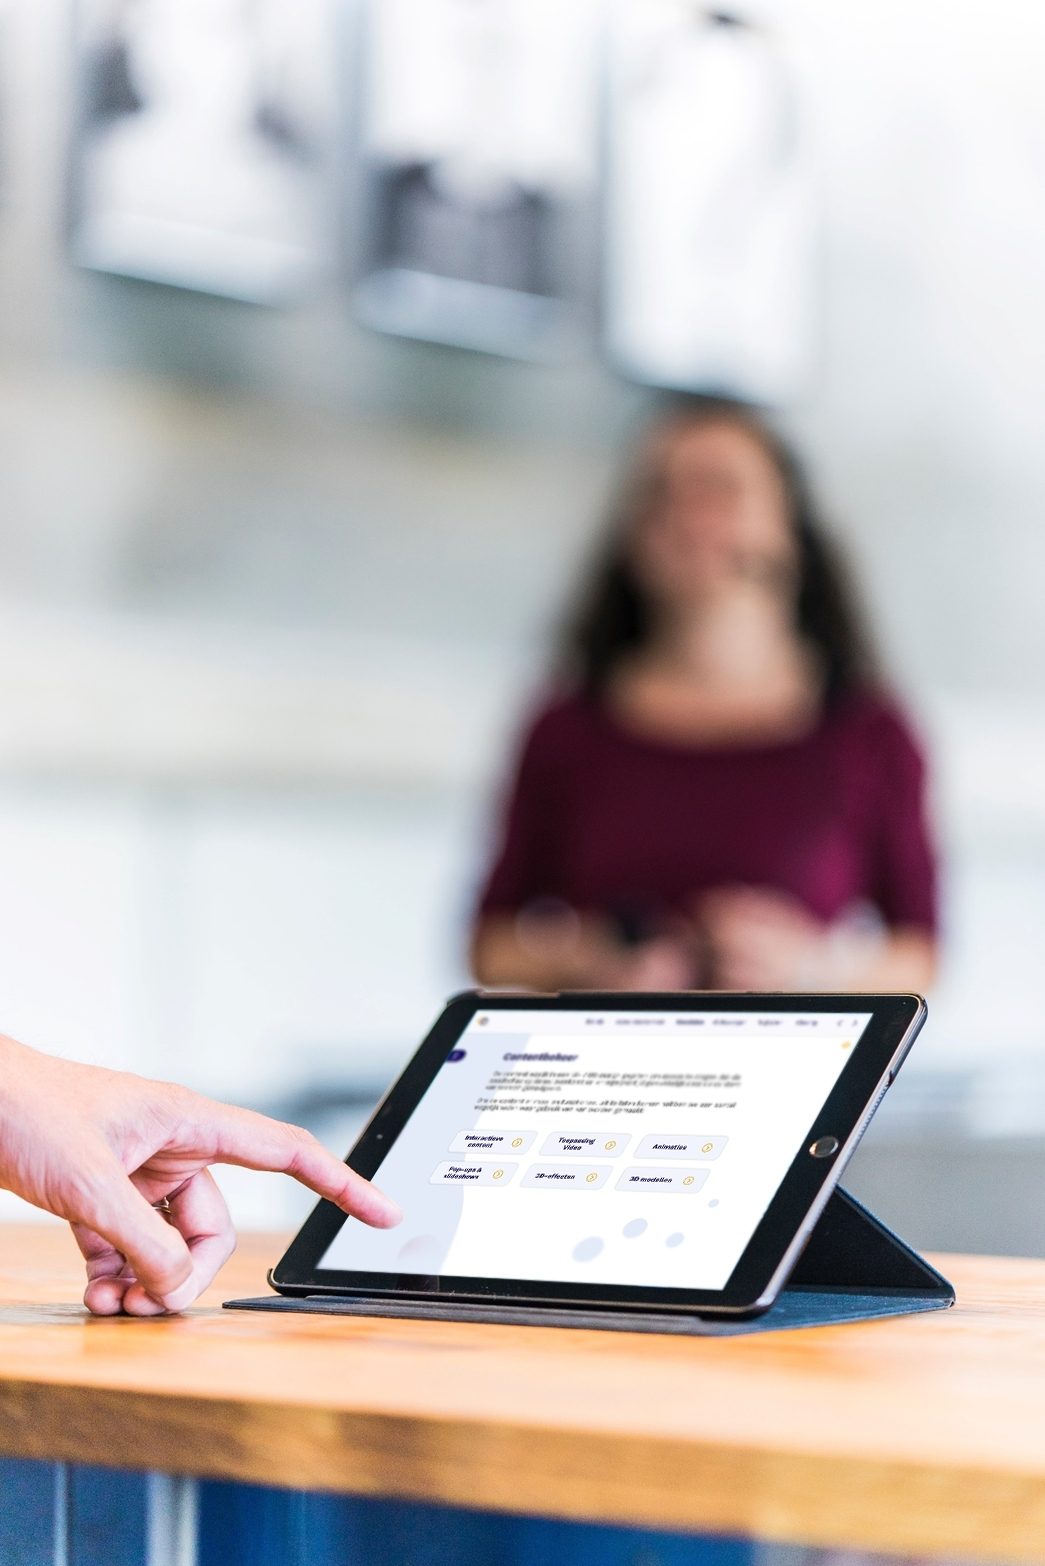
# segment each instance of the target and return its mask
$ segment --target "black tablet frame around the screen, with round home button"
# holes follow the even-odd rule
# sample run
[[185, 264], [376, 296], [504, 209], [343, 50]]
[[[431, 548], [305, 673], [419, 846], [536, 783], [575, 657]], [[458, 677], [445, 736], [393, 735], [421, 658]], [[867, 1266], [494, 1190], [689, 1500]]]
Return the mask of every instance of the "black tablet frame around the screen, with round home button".
[[[345, 1162], [374, 1178], [382, 1160], [428, 1092], [436, 1073], [478, 1010], [578, 1012], [860, 1012], [871, 1013], [835, 1087], [796, 1148], [794, 1159], [757, 1225], [724, 1289], [655, 1289], [631, 1284], [577, 1284], [553, 1279], [456, 1278], [425, 1273], [342, 1272], [320, 1267], [331, 1242], [349, 1221], [329, 1201], [309, 1215], [285, 1256], [269, 1273], [280, 1294], [342, 1294], [454, 1300], [533, 1306], [613, 1306], [639, 1311], [755, 1315], [772, 1304], [797, 1261], [827, 1196], [866, 1129], [885, 1088], [926, 1018], [917, 994], [561, 994], [470, 990], [453, 996], [403, 1074], [378, 1104]], [[833, 1157], [812, 1157], [821, 1137], [837, 1137]]]

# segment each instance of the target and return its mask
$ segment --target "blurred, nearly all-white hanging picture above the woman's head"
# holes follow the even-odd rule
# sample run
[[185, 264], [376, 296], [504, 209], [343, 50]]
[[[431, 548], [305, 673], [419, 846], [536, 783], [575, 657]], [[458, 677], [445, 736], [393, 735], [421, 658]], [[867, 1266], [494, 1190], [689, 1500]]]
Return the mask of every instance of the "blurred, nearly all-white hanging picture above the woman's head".
[[652, 385], [779, 404], [813, 359], [815, 180], [771, 0], [611, 0], [605, 340]]

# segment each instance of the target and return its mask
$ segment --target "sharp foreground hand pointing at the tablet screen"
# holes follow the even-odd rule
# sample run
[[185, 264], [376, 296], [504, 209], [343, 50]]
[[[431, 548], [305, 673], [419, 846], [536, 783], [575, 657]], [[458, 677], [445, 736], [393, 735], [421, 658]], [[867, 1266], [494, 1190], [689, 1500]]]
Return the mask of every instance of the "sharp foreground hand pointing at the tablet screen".
[[291, 1174], [376, 1228], [401, 1217], [299, 1126], [0, 1038], [0, 1187], [69, 1220], [96, 1315], [183, 1311], [210, 1284], [235, 1248], [212, 1164]]

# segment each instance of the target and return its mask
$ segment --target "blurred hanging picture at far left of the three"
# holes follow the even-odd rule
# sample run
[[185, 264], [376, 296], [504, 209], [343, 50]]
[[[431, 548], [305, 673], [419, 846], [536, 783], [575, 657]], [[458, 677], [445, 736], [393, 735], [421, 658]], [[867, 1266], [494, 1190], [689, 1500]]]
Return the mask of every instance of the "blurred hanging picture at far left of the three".
[[334, 0], [77, 0], [71, 247], [276, 302], [331, 262]]

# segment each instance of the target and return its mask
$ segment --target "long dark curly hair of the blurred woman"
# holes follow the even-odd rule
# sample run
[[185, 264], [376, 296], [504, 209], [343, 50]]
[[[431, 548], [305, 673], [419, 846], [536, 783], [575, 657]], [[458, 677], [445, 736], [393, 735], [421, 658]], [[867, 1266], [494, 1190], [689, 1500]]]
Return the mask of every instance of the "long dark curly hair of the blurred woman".
[[[802, 465], [786, 442], [747, 407], [733, 402], [682, 406], [663, 420], [666, 428], [729, 423], [747, 431], [772, 460], [786, 500], [797, 545], [794, 598], [796, 631], [819, 658], [824, 697], [833, 702], [876, 683], [877, 661], [849, 573], [821, 523]], [[653, 628], [653, 606], [628, 559], [635, 523], [633, 484], [625, 481], [613, 512], [608, 542], [594, 573], [567, 619], [559, 673], [600, 695], [617, 664], [645, 645]]]

